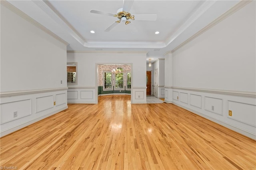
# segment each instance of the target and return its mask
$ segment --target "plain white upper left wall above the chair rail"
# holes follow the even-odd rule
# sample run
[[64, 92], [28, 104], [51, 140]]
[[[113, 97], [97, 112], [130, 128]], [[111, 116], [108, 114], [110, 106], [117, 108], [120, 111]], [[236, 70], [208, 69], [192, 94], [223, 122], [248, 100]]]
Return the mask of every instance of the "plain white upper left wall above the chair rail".
[[66, 45], [2, 5], [1, 14], [1, 91], [66, 87]]

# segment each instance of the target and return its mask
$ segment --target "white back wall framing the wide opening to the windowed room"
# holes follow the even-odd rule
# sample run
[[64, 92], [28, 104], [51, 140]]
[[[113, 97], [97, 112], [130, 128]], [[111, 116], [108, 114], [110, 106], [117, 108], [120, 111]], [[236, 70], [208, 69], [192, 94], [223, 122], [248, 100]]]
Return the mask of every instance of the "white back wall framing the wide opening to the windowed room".
[[[98, 103], [97, 64], [131, 64], [131, 102], [146, 103], [146, 52], [68, 52], [67, 60], [78, 63], [78, 84], [68, 89], [69, 93], [78, 95], [68, 95], [69, 103]], [[81, 99], [82, 89], [91, 91], [92, 95]]]

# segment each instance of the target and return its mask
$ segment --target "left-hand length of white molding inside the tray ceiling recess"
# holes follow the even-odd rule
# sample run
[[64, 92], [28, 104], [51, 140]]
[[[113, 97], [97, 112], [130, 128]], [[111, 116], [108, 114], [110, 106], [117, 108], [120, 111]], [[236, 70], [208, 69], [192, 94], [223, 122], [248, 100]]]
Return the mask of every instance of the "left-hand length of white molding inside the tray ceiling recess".
[[[78, 34], [76, 30], [69, 24], [66, 20], [63, 20], [63, 17], [56, 14], [56, 10], [50, 8], [44, 1], [42, 0], [33, 0], [39, 8], [41, 8], [50, 18], [52, 18], [56, 23], [60, 25], [60, 27], [66, 29], [68, 33], [76, 40], [78, 41], [81, 45], [84, 45], [85, 40]], [[54, 11], [55, 10], [55, 11]], [[57, 12], [58, 13], [58, 12]]]

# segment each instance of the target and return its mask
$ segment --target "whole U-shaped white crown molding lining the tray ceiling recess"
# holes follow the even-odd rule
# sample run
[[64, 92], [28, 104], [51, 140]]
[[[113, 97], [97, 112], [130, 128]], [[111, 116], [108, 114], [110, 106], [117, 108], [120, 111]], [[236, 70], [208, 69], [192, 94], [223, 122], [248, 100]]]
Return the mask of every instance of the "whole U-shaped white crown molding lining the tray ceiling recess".
[[84, 47], [89, 48], [164, 48], [167, 47], [172, 41], [174, 41], [182, 32], [184, 32], [192, 23], [194, 23], [206, 10], [208, 10], [216, 1], [205, 1], [196, 10], [192, 16], [165, 42], [88, 42], [75, 28], [47, 1], [33, 0], [33, 2], [41, 8], [48, 16], [50, 16], [56, 23], [62, 28], [66, 28], [68, 34], [70, 34], [76, 41], [78, 41]]

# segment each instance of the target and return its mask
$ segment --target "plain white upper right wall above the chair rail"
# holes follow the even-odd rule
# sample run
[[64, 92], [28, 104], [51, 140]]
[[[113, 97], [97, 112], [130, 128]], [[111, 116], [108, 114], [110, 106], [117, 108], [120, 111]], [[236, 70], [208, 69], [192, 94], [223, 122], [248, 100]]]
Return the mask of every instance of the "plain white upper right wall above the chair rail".
[[253, 4], [255, 1], [172, 54], [173, 86], [256, 91]]

